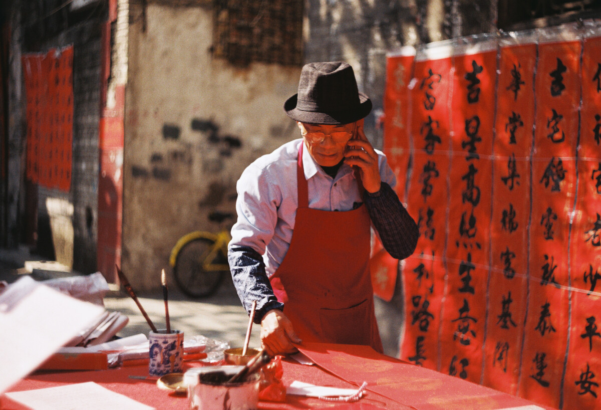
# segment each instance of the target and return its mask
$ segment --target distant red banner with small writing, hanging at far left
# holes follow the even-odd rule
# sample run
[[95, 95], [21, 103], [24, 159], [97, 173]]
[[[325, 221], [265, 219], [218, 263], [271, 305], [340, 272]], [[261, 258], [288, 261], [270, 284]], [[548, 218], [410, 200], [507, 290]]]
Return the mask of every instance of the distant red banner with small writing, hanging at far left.
[[73, 47], [22, 57], [27, 96], [26, 175], [69, 191], [73, 140]]

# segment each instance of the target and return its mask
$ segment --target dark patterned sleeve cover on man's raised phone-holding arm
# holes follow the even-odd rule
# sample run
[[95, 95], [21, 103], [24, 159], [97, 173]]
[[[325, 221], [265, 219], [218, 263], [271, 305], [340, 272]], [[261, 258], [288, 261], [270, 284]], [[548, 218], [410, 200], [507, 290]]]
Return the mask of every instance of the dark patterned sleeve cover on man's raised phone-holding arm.
[[382, 182], [380, 191], [365, 192], [365, 206], [382, 245], [395, 259], [405, 259], [415, 251], [419, 230], [396, 192]]

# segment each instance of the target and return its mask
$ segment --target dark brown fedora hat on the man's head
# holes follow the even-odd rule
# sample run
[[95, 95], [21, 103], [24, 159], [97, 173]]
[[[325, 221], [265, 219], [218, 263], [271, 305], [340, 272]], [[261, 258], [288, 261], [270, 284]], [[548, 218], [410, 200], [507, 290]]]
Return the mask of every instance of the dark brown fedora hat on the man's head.
[[367, 117], [371, 100], [359, 93], [347, 63], [305, 64], [299, 90], [284, 103], [288, 117], [307, 124], [349, 124]]

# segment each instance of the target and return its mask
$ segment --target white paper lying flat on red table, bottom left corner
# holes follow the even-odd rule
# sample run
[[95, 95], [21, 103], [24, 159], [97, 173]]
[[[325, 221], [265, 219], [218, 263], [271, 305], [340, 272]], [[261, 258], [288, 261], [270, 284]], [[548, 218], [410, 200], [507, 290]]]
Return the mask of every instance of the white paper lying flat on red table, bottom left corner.
[[6, 393], [33, 410], [154, 410], [94, 382]]

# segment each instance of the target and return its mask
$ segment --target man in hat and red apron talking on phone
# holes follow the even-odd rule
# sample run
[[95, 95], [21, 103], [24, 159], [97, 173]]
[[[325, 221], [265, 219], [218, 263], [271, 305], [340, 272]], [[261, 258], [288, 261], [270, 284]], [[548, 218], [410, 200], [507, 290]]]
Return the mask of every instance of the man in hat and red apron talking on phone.
[[302, 341], [366, 344], [382, 352], [369, 270], [370, 227], [404, 259], [418, 228], [395, 177], [363, 130], [371, 101], [349, 64], [303, 67], [284, 109], [302, 139], [258, 158], [237, 183], [228, 260], [270, 355]]

